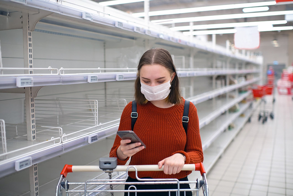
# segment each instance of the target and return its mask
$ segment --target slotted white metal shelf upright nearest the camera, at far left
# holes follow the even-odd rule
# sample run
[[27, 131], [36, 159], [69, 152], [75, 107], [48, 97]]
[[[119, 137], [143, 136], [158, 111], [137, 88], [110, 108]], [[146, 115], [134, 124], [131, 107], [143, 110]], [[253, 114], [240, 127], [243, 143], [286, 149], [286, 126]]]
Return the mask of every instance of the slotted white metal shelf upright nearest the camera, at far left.
[[[27, 13], [23, 13], [23, 61], [25, 68], [33, 68], [33, 43], [32, 32], [30, 31], [29, 18]], [[26, 74], [33, 74], [33, 70], [26, 70]], [[28, 141], [36, 140], [35, 129], [35, 96], [32, 93], [32, 87], [25, 87], [25, 112], [26, 112], [26, 128]], [[38, 165], [34, 164], [30, 167], [30, 195], [39, 195], [38, 185]]]

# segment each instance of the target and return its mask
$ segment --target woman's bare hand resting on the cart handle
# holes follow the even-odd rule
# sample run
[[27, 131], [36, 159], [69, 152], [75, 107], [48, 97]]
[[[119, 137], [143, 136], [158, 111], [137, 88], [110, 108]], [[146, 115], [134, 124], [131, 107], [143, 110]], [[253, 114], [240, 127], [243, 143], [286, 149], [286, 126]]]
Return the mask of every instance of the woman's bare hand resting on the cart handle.
[[171, 157], [161, 160], [158, 165], [159, 169], [164, 165], [165, 174], [178, 174], [185, 163], [185, 158], [182, 154], [176, 153]]

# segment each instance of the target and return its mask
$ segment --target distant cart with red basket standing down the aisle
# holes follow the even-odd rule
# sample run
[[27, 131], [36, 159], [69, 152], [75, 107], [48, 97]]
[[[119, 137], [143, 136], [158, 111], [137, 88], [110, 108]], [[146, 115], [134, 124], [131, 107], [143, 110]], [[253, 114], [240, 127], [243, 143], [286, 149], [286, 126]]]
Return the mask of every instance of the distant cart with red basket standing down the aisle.
[[[260, 121], [263, 118], [263, 124], [267, 122], [268, 120], [268, 115], [270, 114], [270, 118], [274, 119], [274, 105], [275, 105], [275, 91], [274, 91], [274, 85], [273, 81], [268, 82], [268, 84], [264, 86], [254, 86], [253, 89], [253, 97], [254, 98], [261, 98], [260, 100], [260, 109], [259, 114], [258, 114], [258, 121]], [[273, 100], [272, 100], [272, 110], [266, 109], [266, 103], [267, 101], [265, 100], [264, 96], [265, 95], [272, 95]]]

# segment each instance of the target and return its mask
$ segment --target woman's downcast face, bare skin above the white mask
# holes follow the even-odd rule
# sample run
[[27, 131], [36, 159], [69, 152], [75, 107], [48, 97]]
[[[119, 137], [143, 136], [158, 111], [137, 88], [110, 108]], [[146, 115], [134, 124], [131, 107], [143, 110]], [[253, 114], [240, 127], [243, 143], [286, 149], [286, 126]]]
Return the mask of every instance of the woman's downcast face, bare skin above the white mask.
[[166, 82], [171, 82], [175, 72], [170, 76], [168, 69], [162, 65], [144, 65], [140, 68], [140, 81], [148, 86], [157, 86]]

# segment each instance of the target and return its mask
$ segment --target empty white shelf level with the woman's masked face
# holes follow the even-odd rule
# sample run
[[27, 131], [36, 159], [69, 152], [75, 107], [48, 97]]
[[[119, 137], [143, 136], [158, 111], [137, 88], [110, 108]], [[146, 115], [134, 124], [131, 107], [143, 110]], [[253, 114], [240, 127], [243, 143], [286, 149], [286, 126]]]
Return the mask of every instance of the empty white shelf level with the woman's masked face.
[[[137, 77], [137, 73], [134, 71], [130, 71], [131, 69], [125, 68], [125, 72], [105, 72], [100, 73], [102, 69], [95, 69], [96, 73], [65, 73], [60, 69], [61, 75], [50, 75], [50, 76], [27, 76], [33, 79], [33, 86], [50, 86], [50, 85], [66, 85], [66, 84], [81, 84], [88, 83], [89, 76], [97, 76], [97, 82], [110, 82], [110, 81], [128, 81], [135, 80]], [[70, 69], [68, 69], [70, 70]], [[93, 70], [93, 69], [74, 69], [74, 70]], [[108, 70], [108, 69], [107, 69]], [[114, 69], [111, 69], [114, 70]], [[117, 70], [117, 69], [115, 69]], [[118, 69], [119, 70], [119, 69]], [[247, 73], [260, 73], [260, 70], [219, 70], [219, 69], [180, 69], [178, 70], [179, 77], [194, 77], [194, 76], [214, 76], [214, 75], [229, 75], [229, 74], [247, 74]], [[120, 78], [119, 78], [120, 76]], [[6, 88], [17, 88], [17, 80], [18, 78], [23, 77], [21, 74], [18, 76], [8, 76], [0, 75], [0, 89]], [[122, 78], [121, 78], [122, 77]], [[116, 79], [117, 78], [117, 79]], [[119, 78], [119, 79], [118, 79]]]

